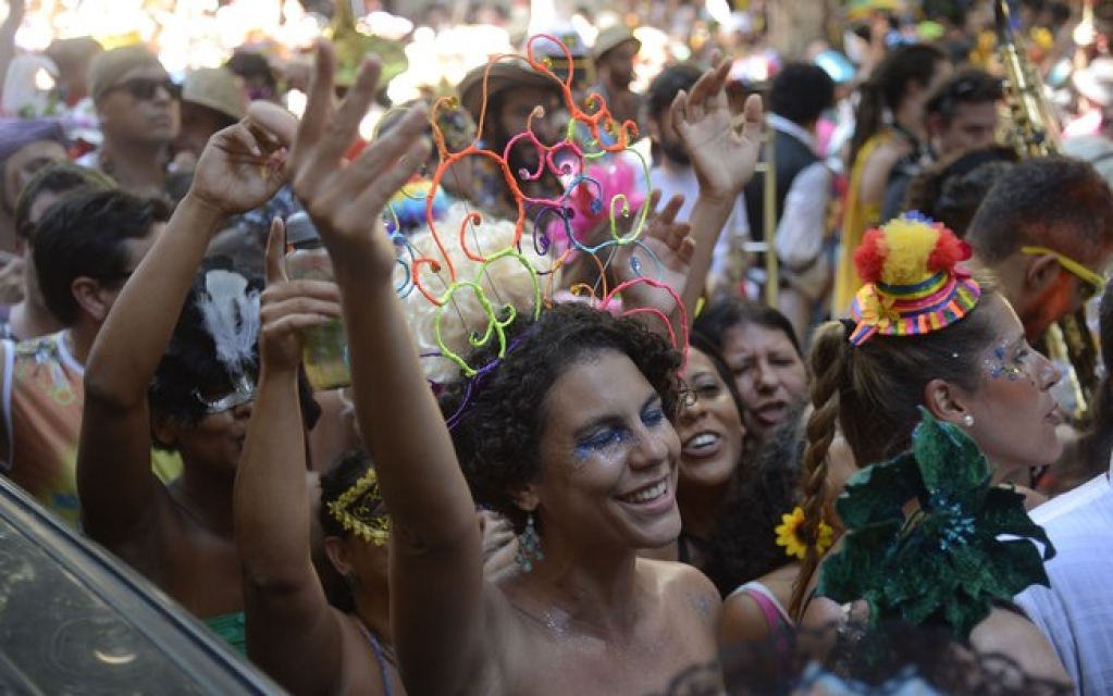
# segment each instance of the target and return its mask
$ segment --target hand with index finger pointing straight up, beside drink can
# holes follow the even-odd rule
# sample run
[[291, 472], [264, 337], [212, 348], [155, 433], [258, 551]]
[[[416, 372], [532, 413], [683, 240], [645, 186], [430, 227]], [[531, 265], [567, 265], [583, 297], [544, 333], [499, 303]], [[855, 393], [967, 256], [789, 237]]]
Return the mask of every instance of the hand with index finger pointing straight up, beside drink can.
[[302, 362], [302, 331], [341, 316], [341, 294], [324, 280], [287, 280], [283, 266], [285, 226], [270, 223], [267, 287], [259, 297], [259, 360], [267, 374], [296, 371]]

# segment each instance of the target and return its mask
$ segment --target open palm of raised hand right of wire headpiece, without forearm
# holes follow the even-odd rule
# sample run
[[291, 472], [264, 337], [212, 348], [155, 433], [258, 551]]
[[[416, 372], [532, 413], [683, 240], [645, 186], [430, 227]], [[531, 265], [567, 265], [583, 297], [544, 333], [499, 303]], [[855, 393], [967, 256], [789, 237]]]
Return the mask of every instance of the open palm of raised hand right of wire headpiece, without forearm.
[[743, 107], [742, 131], [733, 126], [727, 101], [730, 61], [708, 70], [672, 102], [672, 123], [680, 133], [699, 180], [700, 195], [733, 199], [749, 182], [761, 151], [761, 98], [751, 95]]

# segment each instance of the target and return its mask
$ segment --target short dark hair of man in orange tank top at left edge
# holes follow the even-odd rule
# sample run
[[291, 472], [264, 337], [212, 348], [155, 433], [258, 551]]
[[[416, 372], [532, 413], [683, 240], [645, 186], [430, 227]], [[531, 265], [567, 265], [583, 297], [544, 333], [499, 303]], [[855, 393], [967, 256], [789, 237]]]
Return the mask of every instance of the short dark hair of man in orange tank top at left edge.
[[76, 191], [51, 206], [35, 233], [35, 270], [50, 314], [73, 326], [81, 311], [73, 281], [86, 276], [122, 285], [134, 270], [125, 242], [146, 238], [169, 217], [165, 200], [119, 190]]

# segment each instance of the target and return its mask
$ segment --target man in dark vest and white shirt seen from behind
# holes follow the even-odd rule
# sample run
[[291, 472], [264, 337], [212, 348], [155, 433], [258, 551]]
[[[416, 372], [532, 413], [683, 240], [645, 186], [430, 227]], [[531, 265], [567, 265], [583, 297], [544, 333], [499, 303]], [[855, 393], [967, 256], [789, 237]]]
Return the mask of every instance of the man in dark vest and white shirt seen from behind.
[[[831, 173], [816, 152], [815, 133], [819, 117], [834, 101], [835, 82], [830, 76], [808, 63], [785, 66], [769, 87], [766, 120], [774, 129], [778, 309], [800, 337], [808, 335], [812, 310], [830, 286], [825, 240]], [[765, 186], [765, 172], [758, 171], [746, 187], [750, 233], [758, 240], [766, 235]]]

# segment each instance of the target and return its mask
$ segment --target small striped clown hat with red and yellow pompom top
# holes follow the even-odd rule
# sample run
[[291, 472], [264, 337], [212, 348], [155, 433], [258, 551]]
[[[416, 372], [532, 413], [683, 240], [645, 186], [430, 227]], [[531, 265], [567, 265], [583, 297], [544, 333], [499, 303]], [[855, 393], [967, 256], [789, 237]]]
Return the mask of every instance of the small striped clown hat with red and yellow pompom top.
[[949, 326], [977, 304], [982, 288], [958, 262], [971, 247], [942, 223], [908, 212], [866, 232], [854, 252], [866, 285], [850, 306], [850, 342], [915, 336]]

